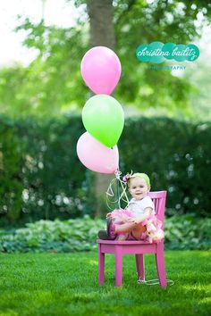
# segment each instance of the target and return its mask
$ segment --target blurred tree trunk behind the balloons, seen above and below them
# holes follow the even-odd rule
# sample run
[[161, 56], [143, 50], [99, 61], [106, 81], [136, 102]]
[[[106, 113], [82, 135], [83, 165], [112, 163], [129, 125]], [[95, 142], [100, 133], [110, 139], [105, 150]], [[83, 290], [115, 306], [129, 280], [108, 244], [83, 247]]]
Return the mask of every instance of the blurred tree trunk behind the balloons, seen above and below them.
[[[88, 0], [88, 13], [90, 24], [90, 46], [106, 46], [114, 49], [113, 0]], [[114, 179], [114, 174], [96, 174], [96, 215], [102, 215], [102, 213], [107, 211], [102, 210], [102, 206], [105, 204], [106, 189], [112, 179]]]

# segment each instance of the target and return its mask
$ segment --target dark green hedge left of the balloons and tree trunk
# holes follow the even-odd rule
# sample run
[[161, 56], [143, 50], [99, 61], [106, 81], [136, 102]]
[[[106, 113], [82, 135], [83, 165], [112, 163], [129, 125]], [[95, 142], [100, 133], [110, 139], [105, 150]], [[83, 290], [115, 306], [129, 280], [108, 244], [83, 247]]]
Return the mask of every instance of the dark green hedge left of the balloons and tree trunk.
[[58, 214], [67, 219], [92, 212], [92, 176], [76, 154], [84, 131], [79, 117], [45, 124], [1, 118], [0, 131], [0, 205], [8, 220], [55, 219]]

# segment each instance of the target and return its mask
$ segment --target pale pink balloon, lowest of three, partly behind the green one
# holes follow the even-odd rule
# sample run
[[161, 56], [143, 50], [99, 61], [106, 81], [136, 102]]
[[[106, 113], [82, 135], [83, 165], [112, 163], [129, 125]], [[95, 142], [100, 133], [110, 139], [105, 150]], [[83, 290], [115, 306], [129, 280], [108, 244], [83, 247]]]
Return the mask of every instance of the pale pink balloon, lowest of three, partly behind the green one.
[[118, 169], [118, 147], [108, 148], [99, 143], [88, 132], [80, 136], [77, 143], [77, 154], [80, 162], [92, 171], [114, 173]]

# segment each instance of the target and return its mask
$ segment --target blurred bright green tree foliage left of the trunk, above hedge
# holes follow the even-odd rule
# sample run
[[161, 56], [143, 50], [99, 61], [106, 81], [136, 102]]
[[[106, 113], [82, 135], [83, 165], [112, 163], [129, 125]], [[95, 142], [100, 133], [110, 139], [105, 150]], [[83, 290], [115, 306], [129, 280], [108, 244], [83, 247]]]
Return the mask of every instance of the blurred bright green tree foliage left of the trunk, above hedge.
[[46, 27], [43, 21], [33, 25], [29, 19], [18, 29], [27, 31], [23, 44], [36, 49], [38, 57], [28, 67], [13, 65], [1, 70], [1, 112], [47, 118], [83, 106], [89, 94], [80, 75], [86, 31]]

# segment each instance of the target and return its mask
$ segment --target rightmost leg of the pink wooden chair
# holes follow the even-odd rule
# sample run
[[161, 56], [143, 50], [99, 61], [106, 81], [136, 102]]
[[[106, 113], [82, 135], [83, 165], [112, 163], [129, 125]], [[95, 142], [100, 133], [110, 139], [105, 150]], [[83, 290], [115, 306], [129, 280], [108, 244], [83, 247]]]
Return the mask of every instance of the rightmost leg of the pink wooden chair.
[[161, 287], [166, 287], [164, 242], [156, 245], [156, 270]]

